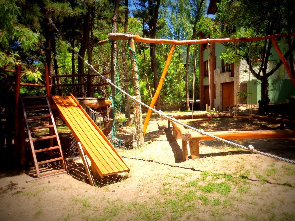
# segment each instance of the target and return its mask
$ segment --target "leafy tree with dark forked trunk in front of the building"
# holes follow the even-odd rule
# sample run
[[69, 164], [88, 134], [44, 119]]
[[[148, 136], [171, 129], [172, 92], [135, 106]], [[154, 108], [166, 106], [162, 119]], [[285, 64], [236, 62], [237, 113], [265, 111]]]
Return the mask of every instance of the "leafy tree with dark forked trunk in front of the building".
[[[294, 32], [293, 18], [286, 16], [286, 13], [294, 14], [294, 5], [289, 0], [274, 0], [272, 4], [267, 0], [263, 1], [226, 1], [218, 4], [216, 19], [224, 26], [223, 35], [228, 35], [229, 30], [236, 29], [230, 37], [241, 36], [265, 36], [277, 33]], [[285, 21], [285, 22], [282, 22]], [[271, 39], [259, 42], [225, 44], [227, 52], [222, 55], [224, 60], [245, 60], [250, 72], [255, 78], [261, 81], [261, 99], [258, 101], [259, 114], [268, 113], [268, 97], [270, 77], [281, 65], [281, 60], [276, 62], [273, 68], [269, 69], [269, 61], [272, 56]], [[294, 37], [289, 38], [289, 50], [285, 53], [287, 58], [294, 50]]]

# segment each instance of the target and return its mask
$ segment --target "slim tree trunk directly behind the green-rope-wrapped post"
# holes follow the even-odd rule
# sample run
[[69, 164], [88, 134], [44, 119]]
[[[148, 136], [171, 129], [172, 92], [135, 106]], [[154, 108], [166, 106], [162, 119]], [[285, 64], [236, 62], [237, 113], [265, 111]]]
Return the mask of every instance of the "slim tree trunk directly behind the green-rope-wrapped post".
[[[124, 17], [124, 32], [128, 31], [128, 0], [125, 0], [124, 3], [125, 9], [125, 17]], [[127, 64], [126, 64], [126, 40], [122, 43], [122, 60], [123, 60], [123, 74], [124, 74], [124, 91], [128, 93], [128, 72], [127, 72]], [[123, 99], [123, 97], [122, 97]], [[127, 118], [128, 122], [131, 121], [130, 116], [130, 100], [127, 95], [125, 95], [125, 117]]]

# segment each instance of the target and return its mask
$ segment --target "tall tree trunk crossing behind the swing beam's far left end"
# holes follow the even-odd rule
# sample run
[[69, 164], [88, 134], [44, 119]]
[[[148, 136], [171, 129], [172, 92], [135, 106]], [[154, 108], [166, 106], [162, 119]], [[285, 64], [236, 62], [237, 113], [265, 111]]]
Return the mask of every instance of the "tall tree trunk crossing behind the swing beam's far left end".
[[[119, 10], [119, 4], [120, 1], [116, 0], [115, 7], [114, 7], [114, 16], [112, 18], [112, 27], [113, 31], [112, 33], [117, 33], [117, 19], [118, 19], [118, 10]], [[111, 45], [112, 53], [111, 53], [111, 82], [115, 83], [115, 65], [116, 65], [116, 57], [115, 52], [117, 51], [117, 42], [112, 41]], [[112, 91], [112, 99], [115, 101], [115, 87], [111, 85], [111, 91]]]

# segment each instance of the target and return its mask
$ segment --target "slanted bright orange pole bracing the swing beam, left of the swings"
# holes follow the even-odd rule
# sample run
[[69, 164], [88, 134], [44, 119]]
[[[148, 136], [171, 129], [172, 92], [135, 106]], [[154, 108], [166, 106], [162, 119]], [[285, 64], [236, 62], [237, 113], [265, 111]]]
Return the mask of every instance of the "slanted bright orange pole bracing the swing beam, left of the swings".
[[[163, 70], [163, 73], [161, 75], [161, 79], [159, 80], [159, 84], [158, 84], [158, 88], [155, 92], [155, 95], [153, 97], [153, 100], [150, 102], [150, 107], [153, 108], [158, 97], [159, 97], [159, 94], [160, 94], [160, 91], [162, 89], [162, 86], [163, 86], [163, 83], [164, 83], [164, 78], [168, 72], [168, 67], [169, 67], [169, 64], [171, 62], [171, 58], [172, 58], [172, 55], [173, 55], [173, 51], [174, 51], [174, 48], [175, 48], [175, 44], [172, 44], [171, 45], [171, 49], [169, 51], [169, 54], [168, 54], [168, 57], [167, 57], [167, 60], [166, 60], [166, 64], [165, 64], [165, 67], [164, 67], [164, 70]], [[147, 113], [147, 116], [145, 117], [145, 123], [143, 125], [143, 134], [145, 134], [146, 130], [147, 130], [147, 127], [148, 127], [148, 122], [150, 121], [150, 115], [152, 114], [152, 110], [148, 110], [148, 113]]]

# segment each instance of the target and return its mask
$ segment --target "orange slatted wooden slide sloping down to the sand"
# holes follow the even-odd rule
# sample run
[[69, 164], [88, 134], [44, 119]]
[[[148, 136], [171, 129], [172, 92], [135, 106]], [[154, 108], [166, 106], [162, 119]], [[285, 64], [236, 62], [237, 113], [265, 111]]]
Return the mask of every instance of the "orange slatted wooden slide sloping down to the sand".
[[91, 160], [91, 164], [94, 164], [101, 178], [130, 171], [108, 138], [72, 94], [71, 96], [52, 96], [52, 98], [63, 120], [76, 140], [81, 142], [83, 151]]

